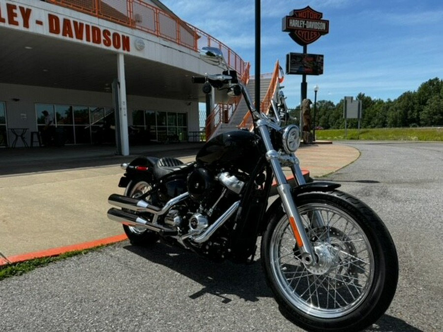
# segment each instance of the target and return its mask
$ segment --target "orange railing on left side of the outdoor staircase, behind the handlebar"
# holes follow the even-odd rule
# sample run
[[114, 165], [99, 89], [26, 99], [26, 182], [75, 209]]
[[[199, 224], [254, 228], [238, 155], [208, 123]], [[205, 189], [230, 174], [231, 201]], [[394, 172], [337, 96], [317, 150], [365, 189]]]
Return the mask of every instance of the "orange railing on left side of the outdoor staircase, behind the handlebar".
[[[246, 64], [241, 80], [248, 85], [250, 63]], [[242, 96], [232, 97], [226, 104], [218, 104], [206, 118], [206, 139], [208, 140], [221, 123], [228, 123], [238, 107]]]

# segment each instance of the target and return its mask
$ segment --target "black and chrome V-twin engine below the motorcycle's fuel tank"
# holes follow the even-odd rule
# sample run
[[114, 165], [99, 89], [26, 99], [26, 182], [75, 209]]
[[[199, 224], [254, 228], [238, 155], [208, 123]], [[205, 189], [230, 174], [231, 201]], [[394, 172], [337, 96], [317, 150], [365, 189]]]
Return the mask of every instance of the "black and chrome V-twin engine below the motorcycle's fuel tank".
[[[186, 179], [189, 197], [166, 213], [163, 219], [165, 226], [178, 230], [176, 240], [185, 246], [192, 246], [213, 260], [222, 259], [232, 230], [226, 211], [240, 200], [248, 177], [239, 171], [216, 174], [204, 166], [193, 169]], [[223, 221], [209, 240], [198, 241], [200, 236], [206, 236], [205, 232], [210, 231], [211, 225], [221, 219], [227, 222]]]

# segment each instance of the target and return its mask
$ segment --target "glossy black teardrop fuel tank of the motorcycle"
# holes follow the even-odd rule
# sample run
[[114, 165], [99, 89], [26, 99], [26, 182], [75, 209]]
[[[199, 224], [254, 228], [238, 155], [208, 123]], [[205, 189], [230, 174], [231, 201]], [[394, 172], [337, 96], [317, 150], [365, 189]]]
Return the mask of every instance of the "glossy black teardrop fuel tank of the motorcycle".
[[232, 130], [209, 140], [197, 153], [197, 163], [212, 167], [234, 166], [251, 173], [261, 153], [259, 137], [246, 130]]

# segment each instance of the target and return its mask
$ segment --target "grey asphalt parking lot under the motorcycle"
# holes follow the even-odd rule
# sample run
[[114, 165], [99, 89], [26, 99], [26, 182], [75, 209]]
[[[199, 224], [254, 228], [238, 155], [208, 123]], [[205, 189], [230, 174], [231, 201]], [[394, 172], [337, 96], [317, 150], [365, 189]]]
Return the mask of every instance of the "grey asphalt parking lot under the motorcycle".
[[[400, 278], [367, 331], [443, 329], [443, 144], [347, 142], [361, 152], [326, 176], [370, 205], [397, 247]], [[127, 241], [0, 282], [4, 331], [302, 331], [264, 282], [260, 257], [216, 264], [179, 248]]]

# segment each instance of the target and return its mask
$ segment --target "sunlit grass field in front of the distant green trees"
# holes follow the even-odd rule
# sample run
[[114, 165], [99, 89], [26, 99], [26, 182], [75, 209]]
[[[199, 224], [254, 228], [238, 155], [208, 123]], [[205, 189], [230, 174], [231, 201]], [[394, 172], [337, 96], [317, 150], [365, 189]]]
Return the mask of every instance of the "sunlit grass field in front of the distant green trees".
[[316, 130], [317, 140], [432, 141], [443, 142], [443, 127]]

